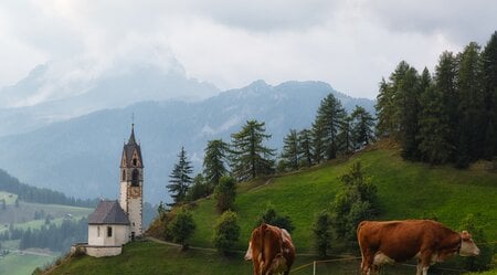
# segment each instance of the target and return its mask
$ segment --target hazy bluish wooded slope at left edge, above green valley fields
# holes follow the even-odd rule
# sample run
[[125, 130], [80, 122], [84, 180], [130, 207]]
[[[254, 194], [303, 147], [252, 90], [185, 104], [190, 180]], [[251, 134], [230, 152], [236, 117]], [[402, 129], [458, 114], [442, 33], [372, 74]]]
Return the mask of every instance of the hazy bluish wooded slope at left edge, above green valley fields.
[[31, 187], [20, 182], [17, 178], [10, 176], [0, 169], [0, 190], [14, 193], [18, 199], [27, 202], [38, 202], [45, 204], [63, 204], [82, 208], [94, 208], [98, 199], [76, 199], [66, 197], [62, 192], [53, 191], [47, 188]]

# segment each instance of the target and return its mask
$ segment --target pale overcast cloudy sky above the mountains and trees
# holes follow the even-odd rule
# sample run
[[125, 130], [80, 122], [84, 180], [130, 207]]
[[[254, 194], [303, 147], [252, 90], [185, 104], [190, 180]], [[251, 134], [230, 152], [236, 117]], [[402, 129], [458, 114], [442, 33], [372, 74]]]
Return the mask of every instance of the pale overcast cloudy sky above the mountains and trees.
[[374, 98], [401, 60], [432, 71], [444, 50], [486, 44], [496, 14], [495, 0], [1, 1], [0, 86], [47, 62], [76, 78], [179, 63], [221, 89], [316, 80]]

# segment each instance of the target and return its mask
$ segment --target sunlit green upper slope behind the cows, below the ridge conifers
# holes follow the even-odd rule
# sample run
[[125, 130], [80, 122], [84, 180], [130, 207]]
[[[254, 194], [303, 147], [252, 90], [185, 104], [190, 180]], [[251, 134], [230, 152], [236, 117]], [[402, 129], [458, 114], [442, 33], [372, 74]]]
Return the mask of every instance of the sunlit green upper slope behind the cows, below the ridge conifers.
[[[242, 226], [237, 248], [245, 247], [256, 216], [271, 202], [278, 212], [290, 216], [298, 251], [310, 251], [315, 214], [329, 207], [339, 190], [338, 178], [357, 160], [361, 160], [366, 173], [378, 187], [380, 219], [417, 219], [435, 213], [442, 223], [457, 230], [467, 214], [480, 213], [487, 235], [497, 235], [497, 228], [493, 226], [497, 222], [497, 173], [430, 168], [402, 161], [396, 150], [381, 149], [357, 155], [351, 161], [277, 177], [260, 188], [254, 186], [266, 181], [242, 184], [235, 202]], [[200, 201], [193, 213], [198, 230], [192, 243], [212, 246], [212, 226], [219, 216], [214, 201]]]

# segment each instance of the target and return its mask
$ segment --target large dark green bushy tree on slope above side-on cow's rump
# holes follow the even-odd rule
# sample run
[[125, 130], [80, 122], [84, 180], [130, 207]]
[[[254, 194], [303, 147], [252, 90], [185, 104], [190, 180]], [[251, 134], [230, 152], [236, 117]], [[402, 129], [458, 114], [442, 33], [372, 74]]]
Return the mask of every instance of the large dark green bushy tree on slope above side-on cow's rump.
[[378, 214], [377, 188], [363, 174], [360, 162], [353, 163], [340, 181], [342, 189], [331, 204], [332, 226], [337, 237], [353, 242], [359, 222]]

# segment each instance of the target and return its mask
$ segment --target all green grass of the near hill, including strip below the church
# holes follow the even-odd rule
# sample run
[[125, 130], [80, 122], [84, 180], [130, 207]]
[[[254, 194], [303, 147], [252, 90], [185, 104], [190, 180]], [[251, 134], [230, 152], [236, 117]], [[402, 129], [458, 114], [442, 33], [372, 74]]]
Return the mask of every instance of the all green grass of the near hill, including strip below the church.
[[[331, 161], [309, 170], [240, 184], [235, 211], [242, 235], [235, 248], [241, 253], [246, 248], [256, 218], [271, 202], [279, 213], [290, 216], [296, 228], [293, 239], [297, 253], [311, 253], [310, 226], [315, 214], [329, 207], [340, 186], [338, 177], [359, 160], [378, 187], [380, 219], [415, 219], [434, 214], [442, 223], [458, 230], [463, 218], [479, 213], [480, 225], [489, 241], [497, 236], [497, 173], [411, 163], [401, 160], [398, 150], [371, 149], [353, 156], [349, 161]], [[197, 231], [191, 244], [212, 247], [212, 228], [219, 216], [214, 200], [198, 201], [193, 215]], [[51, 274], [131, 274], [133, 268], [140, 268], [142, 274], [250, 274], [250, 264], [243, 263], [241, 257], [242, 254], [223, 258], [213, 252], [194, 250], [180, 253], [177, 247], [140, 242], [126, 245], [125, 253], [117, 257], [71, 258]], [[297, 258], [296, 267], [313, 260], [303, 255]], [[118, 263], [127, 267], [118, 267]], [[358, 264], [352, 262], [343, 268], [350, 271]], [[327, 267], [329, 272], [324, 273], [325, 267], [318, 274], [351, 274], [339, 272], [337, 266]], [[413, 272], [412, 267], [408, 269], [408, 274]], [[302, 274], [309, 274], [310, 271], [303, 271]], [[394, 271], [385, 274], [402, 273]]]

